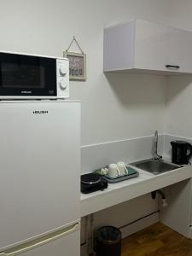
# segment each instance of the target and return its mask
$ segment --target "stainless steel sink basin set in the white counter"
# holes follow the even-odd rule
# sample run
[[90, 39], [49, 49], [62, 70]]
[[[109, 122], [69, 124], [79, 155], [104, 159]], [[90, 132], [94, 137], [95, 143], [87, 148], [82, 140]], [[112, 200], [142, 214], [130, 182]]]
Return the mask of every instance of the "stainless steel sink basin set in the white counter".
[[136, 166], [137, 168], [143, 169], [144, 171], [151, 172], [155, 175], [169, 172], [183, 166], [177, 166], [175, 164], [166, 162], [164, 160], [141, 160], [130, 164], [131, 166]]

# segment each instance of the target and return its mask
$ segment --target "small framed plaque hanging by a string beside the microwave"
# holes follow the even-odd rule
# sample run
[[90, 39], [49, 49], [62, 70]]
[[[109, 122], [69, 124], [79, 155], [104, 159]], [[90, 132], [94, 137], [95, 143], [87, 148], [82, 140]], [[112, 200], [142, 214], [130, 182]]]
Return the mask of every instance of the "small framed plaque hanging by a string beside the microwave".
[[[69, 52], [71, 45], [75, 42], [81, 53]], [[86, 55], [80, 48], [78, 41], [73, 37], [68, 49], [63, 52], [63, 56], [69, 60], [69, 79], [70, 80], [86, 80]]]

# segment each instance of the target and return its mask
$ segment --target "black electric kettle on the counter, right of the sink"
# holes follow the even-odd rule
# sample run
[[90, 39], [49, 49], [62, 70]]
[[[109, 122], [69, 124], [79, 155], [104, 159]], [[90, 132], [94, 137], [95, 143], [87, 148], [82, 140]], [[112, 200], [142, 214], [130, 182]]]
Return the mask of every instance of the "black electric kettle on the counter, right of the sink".
[[172, 141], [172, 163], [188, 165], [192, 156], [192, 145], [184, 141]]

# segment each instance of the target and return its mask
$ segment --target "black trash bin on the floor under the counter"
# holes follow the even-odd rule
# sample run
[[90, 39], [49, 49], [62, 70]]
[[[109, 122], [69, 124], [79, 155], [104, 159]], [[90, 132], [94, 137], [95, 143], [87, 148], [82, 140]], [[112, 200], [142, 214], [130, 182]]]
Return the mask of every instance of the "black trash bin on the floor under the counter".
[[121, 232], [113, 226], [96, 231], [96, 256], [120, 256]]

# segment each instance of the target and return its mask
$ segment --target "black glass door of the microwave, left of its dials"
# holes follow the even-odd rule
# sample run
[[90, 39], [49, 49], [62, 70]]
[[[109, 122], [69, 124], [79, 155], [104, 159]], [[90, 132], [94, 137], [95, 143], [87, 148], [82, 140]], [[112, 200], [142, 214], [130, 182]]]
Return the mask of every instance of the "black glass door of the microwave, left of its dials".
[[0, 53], [0, 95], [55, 96], [55, 59]]

